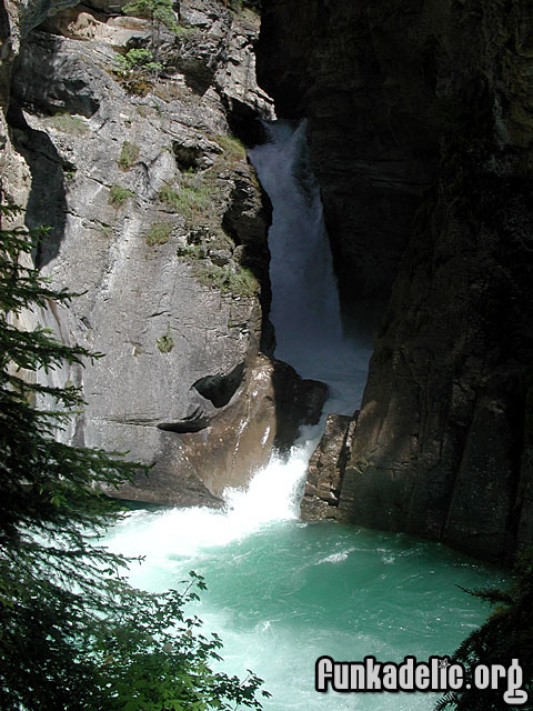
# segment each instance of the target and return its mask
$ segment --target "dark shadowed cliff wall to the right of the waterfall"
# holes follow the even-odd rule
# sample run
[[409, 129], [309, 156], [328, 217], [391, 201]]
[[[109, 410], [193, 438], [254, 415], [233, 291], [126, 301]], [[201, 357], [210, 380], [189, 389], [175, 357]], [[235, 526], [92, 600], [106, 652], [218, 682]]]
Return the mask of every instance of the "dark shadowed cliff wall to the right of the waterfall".
[[533, 541], [531, 3], [265, 4], [343, 292], [393, 287], [328, 514], [502, 560]]

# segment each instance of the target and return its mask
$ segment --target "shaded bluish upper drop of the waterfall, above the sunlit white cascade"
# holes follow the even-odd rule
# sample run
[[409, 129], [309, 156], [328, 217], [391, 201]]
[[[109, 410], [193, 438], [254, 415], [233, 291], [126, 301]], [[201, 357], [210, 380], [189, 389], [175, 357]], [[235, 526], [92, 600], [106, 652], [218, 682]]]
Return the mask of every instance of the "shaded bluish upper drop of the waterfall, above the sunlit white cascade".
[[273, 208], [269, 232], [275, 357], [330, 387], [326, 412], [353, 414], [370, 348], [344, 333], [333, 260], [305, 122], [265, 123], [269, 141], [249, 151]]

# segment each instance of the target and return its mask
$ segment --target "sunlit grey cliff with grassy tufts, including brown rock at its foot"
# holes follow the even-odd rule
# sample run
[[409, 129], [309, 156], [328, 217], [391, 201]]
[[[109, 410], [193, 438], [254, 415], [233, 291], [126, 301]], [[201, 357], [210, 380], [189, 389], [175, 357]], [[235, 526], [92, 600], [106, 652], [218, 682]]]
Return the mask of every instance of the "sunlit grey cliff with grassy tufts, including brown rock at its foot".
[[155, 78], [117, 73], [118, 52], [150, 42], [148, 21], [37, 4], [11, 24], [3, 156], [20, 174], [6, 169], [2, 191], [51, 228], [42, 273], [82, 292], [42, 319], [105, 354], [53, 375], [88, 401], [68, 435], [154, 464], [119, 495], [217, 504], [325, 397], [268, 357], [269, 206], [231, 134], [273, 116], [255, 82], [259, 19], [183, 0]]

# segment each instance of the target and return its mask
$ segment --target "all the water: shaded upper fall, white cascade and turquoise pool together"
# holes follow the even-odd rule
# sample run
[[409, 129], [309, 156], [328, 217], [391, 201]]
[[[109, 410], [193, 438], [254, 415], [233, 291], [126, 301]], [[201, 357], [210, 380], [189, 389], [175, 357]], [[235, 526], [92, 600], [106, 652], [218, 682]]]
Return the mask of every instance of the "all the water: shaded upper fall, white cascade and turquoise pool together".
[[[319, 192], [304, 126], [269, 128], [251, 151], [273, 203], [271, 319], [276, 357], [328, 382], [326, 411], [352, 413], [370, 343], [343, 333]], [[430, 710], [435, 694], [319, 694], [314, 662], [426, 660], [452, 652], [486, 609], [457, 585], [501, 582], [496, 571], [435, 543], [328, 522], [298, 520], [306, 463], [320, 431], [302, 432], [289, 461], [273, 457], [248, 491], [227, 492], [225, 511], [133, 511], [108, 537], [148, 590], [175, 587], [189, 570], [209, 590], [193, 610], [224, 641], [223, 668], [265, 680], [265, 711]]]

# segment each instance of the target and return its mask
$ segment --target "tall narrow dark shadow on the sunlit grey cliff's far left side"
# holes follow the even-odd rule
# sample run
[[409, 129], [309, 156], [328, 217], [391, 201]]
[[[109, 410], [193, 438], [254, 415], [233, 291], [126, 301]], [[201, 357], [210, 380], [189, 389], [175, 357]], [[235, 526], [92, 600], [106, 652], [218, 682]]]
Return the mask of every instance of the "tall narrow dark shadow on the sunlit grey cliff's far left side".
[[36, 267], [41, 268], [58, 256], [63, 239], [67, 221], [64, 172], [74, 170], [74, 167], [61, 159], [47, 133], [28, 126], [20, 107], [13, 102], [7, 120], [13, 146], [24, 157], [31, 172], [26, 224], [29, 229], [50, 228], [36, 256]]

